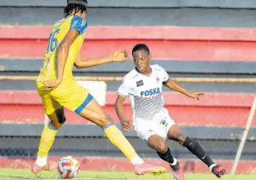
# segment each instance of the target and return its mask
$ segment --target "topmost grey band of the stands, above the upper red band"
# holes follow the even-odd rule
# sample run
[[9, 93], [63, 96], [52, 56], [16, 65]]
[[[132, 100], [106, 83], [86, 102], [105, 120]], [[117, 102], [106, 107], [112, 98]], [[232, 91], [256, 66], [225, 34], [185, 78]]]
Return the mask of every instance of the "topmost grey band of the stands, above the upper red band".
[[[2, 0], [0, 22], [23, 25], [51, 24], [61, 18], [64, 2]], [[254, 17], [254, 1], [93, 0], [89, 3], [90, 25], [254, 27], [256, 21], [251, 18]]]

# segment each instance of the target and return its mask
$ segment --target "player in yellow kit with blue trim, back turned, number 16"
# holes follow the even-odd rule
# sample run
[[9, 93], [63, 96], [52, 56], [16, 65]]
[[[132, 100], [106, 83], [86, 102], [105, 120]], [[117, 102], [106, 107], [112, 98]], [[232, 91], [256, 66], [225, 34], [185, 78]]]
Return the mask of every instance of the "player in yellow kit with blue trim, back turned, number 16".
[[57, 163], [48, 161], [47, 155], [58, 129], [66, 120], [63, 111], [63, 107], [66, 107], [102, 128], [109, 140], [134, 165], [135, 174], [164, 173], [164, 168], [147, 164], [137, 155], [122, 132], [110, 123], [113, 120], [105, 114], [89, 91], [75, 82], [72, 75], [73, 65], [81, 69], [123, 61], [128, 58], [128, 53], [117, 51], [110, 57], [82, 59], [79, 51], [83, 45], [84, 31], [87, 29], [87, 0], [68, 0], [67, 2], [64, 10], [66, 17], [55, 23], [50, 32], [44, 65], [36, 80], [37, 92], [42, 98], [45, 113], [51, 121], [41, 133], [32, 172], [38, 174], [42, 170], [56, 169]]

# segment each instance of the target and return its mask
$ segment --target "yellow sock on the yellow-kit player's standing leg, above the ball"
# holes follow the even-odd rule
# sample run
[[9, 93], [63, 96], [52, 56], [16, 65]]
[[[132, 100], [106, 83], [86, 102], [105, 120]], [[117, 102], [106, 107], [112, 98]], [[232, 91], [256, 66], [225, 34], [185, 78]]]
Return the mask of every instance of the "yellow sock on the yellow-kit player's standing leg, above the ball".
[[41, 133], [41, 140], [38, 148], [36, 165], [44, 166], [46, 165], [47, 155], [49, 153], [49, 149], [51, 149], [53, 145], [53, 141], [57, 134], [58, 130], [53, 129], [49, 126], [46, 126]]

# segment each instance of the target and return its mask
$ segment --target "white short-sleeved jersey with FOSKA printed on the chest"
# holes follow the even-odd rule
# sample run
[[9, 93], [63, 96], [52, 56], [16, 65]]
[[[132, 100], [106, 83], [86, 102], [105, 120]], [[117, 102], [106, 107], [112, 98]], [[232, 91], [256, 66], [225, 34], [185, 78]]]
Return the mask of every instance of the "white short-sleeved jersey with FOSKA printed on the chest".
[[159, 65], [151, 65], [149, 76], [135, 68], [126, 74], [117, 93], [129, 96], [134, 119], [151, 120], [164, 108], [162, 87], [168, 79], [168, 73]]

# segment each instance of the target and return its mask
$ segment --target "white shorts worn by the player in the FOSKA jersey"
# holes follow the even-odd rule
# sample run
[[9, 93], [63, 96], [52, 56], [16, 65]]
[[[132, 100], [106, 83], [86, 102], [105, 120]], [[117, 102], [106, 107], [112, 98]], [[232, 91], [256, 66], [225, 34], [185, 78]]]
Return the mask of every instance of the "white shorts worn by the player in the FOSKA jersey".
[[137, 132], [139, 138], [147, 142], [147, 139], [151, 135], [159, 135], [164, 140], [174, 124], [173, 119], [169, 116], [169, 111], [167, 109], [162, 109], [157, 112], [153, 119], [146, 120], [135, 118], [133, 121], [134, 130]]

